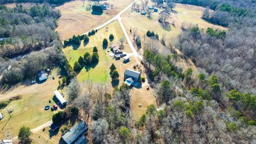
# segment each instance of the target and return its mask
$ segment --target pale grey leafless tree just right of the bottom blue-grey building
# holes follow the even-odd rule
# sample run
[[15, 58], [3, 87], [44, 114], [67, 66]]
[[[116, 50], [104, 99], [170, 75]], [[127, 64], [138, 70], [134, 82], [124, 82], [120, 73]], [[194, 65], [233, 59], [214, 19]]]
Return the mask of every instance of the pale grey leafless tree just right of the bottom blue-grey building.
[[98, 121], [92, 121], [92, 142], [102, 143], [105, 139], [105, 134], [108, 130], [108, 122], [105, 119], [99, 119]]

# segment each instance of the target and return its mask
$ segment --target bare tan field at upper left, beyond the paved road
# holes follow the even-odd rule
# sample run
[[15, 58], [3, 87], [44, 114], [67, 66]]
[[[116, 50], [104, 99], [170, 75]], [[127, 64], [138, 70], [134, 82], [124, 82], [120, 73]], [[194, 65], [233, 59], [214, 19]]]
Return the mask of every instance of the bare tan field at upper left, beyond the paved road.
[[101, 25], [129, 5], [132, 0], [122, 0], [122, 2], [118, 0], [110, 0], [103, 2], [113, 4], [114, 9], [108, 9], [108, 14], [103, 12], [102, 15], [93, 15], [91, 14], [91, 10], [86, 10], [87, 1], [85, 2], [84, 7], [82, 1], [71, 1], [56, 7], [56, 9], [61, 11], [62, 15], [58, 20], [58, 27], [56, 29], [60, 34], [61, 41], [64, 41], [73, 35], [83, 34], [94, 27]]

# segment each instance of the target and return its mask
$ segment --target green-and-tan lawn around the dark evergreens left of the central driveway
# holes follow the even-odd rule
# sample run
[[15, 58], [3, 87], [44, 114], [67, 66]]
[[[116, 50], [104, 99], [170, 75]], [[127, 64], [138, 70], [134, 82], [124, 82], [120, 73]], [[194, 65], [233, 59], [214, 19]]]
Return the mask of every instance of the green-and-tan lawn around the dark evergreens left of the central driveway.
[[[103, 50], [102, 47], [102, 41], [103, 38], [108, 39], [108, 44], [114, 44], [119, 43], [120, 38], [125, 38], [123, 31], [121, 27], [119, 26], [119, 23], [117, 21], [111, 22], [108, 26], [108, 31], [106, 28], [102, 28], [96, 33], [95, 35], [90, 37], [90, 42], [84, 46], [83, 41], [81, 42], [81, 45], [78, 47], [78, 49], [74, 49], [73, 46], [68, 46], [63, 49], [63, 52], [65, 53], [70, 65], [73, 67], [75, 61], [78, 60], [80, 56], [83, 57], [85, 52], [89, 52], [92, 54], [93, 46], [98, 47], [98, 54], [99, 54], [99, 63], [96, 66], [92, 66], [90, 69], [83, 68], [81, 72], [77, 75], [77, 79], [80, 82], [87, 81], [88, 79], [91, 79], [93, 82], [102, 82], [102, 83], [110, 83], [111, 78], [109, 76], [109, 67], [112, 63], [115, 63], [117, 69], [124, 69], [127, 67], [127, 65], [130, 65], [130, 63], [124, 64], [121, 60], [115, 61], [113, 58], [109, 57], [109, 53], [107, 52], [108, 48], [106, 50]], [[109, 41], [109, 35], [114, 35], [114, 41]], [[128, 44], [126, 44], [126, 41], [124, 43], [124, 51], [127, 53], [131, 53], [131, 49]], [[119, 71], [119, 74], [123, 73], [123, 71]]]

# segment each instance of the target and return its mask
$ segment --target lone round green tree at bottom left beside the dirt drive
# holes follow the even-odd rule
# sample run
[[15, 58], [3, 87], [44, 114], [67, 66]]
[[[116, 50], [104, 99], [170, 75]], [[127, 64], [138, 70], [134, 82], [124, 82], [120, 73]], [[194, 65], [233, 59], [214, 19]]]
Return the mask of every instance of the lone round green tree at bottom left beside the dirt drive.
[[30, 131], [29, 127], [22, 126], [19, 130], [18, 139], [20, 143], [31, 143], [30, 135], [32, 132]]

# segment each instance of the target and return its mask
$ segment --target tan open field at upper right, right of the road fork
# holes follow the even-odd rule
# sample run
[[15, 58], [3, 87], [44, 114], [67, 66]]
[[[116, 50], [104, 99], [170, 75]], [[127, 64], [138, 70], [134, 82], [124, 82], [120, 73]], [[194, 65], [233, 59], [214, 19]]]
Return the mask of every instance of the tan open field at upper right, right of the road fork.
[[[207, 27], [219, 28], [219, 29], [227, 29], [225, 27], [213, 25], [203, 19], [201, 19], [204, 8], [193, 5], [185, 5], [185, 4], [177, 4], [174, 8], [177, 13], [171, 13], [169, 22], [172, 23], [174, 21], [174, 26], [171, 25], [171, 30], [164, 30], [161, 25], [159, 25], [158, 17], [159, 13], [154, 12], [151, 15], [151, 19], [146, 16], [142, 16], [138, 12], [132, 12], [131, 9], [126, 11], [122, 16], [122, 21], [126, 30], [129, 31], [130, 28], [137, 28], [138, 34], [142, 37], [147, 33], [147, 30], [154, 30], [155, 33], [159, 35], [161, 38], [163, 34], [166, 34], [166, 38], [177, 37], [181, 32], [181, 25], [183, 22], [191, 25], [196, 25], [200, 28], [206, 29]], [[158, 9], [158, 11], [160, 11]]]

